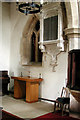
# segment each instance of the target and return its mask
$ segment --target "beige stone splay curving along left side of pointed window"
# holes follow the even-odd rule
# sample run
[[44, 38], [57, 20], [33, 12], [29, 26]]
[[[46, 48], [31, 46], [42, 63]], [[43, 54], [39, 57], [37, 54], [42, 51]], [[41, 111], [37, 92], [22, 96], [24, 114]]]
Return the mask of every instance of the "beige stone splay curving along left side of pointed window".
[[28, 65], [31, 57], [31, 36], [35, 27], [36, 22], [39, 20], [38, 16], [31, 15], [26, 22], [22, 33], [22, 39], [20, 43], [20, 55], [21, 64]]

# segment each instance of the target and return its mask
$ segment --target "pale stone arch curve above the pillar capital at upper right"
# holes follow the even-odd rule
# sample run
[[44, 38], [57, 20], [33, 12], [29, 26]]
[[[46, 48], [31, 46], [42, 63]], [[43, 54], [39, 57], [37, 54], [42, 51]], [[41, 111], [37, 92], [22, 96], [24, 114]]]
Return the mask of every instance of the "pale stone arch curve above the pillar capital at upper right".
[[68, 20], [68, 28], [78, 28], [78, 3], [77, 0], [69, 2], [65, 2], [66, 12], [67, 12], [67, 20]]

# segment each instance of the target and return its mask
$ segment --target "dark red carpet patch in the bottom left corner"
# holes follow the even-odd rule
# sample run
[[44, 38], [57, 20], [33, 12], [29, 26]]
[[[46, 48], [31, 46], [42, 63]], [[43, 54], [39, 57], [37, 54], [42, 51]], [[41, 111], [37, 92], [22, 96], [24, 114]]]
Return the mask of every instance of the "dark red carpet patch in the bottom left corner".
[[1, 120], [24, 120], [22, 118], [17, 117], [9, 112], [2, 110], [2, 119]]

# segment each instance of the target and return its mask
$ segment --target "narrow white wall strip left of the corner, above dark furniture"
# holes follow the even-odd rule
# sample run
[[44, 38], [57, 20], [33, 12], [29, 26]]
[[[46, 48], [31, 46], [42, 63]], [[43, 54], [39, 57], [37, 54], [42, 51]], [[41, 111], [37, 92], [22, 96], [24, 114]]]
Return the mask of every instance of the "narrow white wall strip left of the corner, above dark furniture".
[[[2, 10], [1, 10], [2, 4]], [[0, 70], [9, 71], [10, 60], [10, 6], [0, 3]]]

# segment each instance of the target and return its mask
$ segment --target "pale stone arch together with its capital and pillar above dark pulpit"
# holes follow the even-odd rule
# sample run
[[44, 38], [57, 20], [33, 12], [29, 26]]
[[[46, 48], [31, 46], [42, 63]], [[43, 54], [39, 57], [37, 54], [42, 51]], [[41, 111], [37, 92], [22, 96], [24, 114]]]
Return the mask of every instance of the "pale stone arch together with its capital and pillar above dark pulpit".
[[67, 13], [67, 28], [64, 30], [69, 40], [69, 50], [80, 49], [80, 28], [78, 1], [65, 2]]

